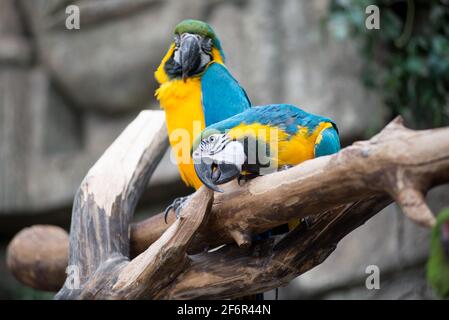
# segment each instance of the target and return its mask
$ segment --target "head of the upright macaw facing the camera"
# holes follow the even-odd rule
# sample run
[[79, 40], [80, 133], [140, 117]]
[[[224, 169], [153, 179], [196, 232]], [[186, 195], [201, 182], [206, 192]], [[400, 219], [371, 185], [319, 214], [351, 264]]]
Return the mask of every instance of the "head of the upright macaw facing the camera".
[[214, 60], [224, 60], [220, 40], [210, 25], [188, 19], [175, 27], [173, 43], [163, 60], [169, 78], [182, 78], [201, 74]]

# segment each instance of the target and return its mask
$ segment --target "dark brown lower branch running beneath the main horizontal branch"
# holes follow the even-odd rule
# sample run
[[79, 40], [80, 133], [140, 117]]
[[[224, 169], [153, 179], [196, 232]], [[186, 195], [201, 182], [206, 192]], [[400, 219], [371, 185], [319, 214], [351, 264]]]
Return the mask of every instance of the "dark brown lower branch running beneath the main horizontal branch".
[[348, 233], [391, 203], [373, 196], [323, 212], [285, 236], [259, 241], [249, 248], [227, 245], [197, 254], [157, 299], [225, 299], [265, 292], [288, 284], [323, 262]]

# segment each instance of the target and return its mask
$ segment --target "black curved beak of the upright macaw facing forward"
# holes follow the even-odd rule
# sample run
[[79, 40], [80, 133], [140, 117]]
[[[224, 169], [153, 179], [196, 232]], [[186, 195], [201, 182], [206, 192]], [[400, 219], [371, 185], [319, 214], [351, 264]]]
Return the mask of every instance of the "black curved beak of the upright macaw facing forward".
[[180, 53], [182, 79], [185, 81], [189, 73], [200, 66], [201, 49], [199, 39], [194, 35], [185, 34], [181, 40]]

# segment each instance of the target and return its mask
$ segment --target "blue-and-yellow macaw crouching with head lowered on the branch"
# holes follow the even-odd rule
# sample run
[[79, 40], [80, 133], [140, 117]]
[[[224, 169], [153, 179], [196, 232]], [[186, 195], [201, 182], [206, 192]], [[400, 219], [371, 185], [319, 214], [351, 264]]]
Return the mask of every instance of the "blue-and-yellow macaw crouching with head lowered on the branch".
[[[339, 150], [338, 129], [331, 119], [293, 105], [273, 104], [208, 126], [191, 152], [199, 179], [222, 192], [217, 185], [237, 177], [288, 168]], [[291, 221], [289, 229], [298, 223]]]

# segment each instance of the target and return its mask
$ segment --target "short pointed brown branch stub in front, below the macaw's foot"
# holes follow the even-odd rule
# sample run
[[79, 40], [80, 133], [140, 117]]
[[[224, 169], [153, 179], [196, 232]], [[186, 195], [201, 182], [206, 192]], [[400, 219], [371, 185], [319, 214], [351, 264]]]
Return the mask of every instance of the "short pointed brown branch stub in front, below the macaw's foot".
[[[181, 217], [136, 258], [112, 255], [101, 263], [80, 290], [66, 287], [58, 298], [145, 299], [153, 298], [189, 265], [187, 247], [198, 228], [207, 221], [213, 192], [201, 188], [182, 210]], [[61, 295], [67, 294], [68, 295]], [[73, 296], [75, 294], [75, 296]]]

